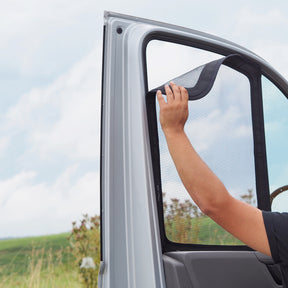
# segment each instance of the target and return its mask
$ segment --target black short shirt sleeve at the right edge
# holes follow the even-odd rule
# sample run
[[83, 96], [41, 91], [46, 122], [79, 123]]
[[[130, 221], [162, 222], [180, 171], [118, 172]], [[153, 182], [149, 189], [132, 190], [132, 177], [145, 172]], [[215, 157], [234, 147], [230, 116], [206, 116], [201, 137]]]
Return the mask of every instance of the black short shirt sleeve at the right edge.
[[272, 258], [280, 264], [283, 287], [288, 287], [288, 213], [265, 212], [263, 219]]

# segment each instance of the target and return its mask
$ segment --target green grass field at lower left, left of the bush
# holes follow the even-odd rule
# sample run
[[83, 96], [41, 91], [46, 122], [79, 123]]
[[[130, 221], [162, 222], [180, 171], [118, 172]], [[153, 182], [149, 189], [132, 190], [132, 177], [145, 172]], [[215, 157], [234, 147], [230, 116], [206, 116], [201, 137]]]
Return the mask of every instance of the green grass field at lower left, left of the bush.
[[68, 233], [0, 241], [0, 287], [81, 287]]

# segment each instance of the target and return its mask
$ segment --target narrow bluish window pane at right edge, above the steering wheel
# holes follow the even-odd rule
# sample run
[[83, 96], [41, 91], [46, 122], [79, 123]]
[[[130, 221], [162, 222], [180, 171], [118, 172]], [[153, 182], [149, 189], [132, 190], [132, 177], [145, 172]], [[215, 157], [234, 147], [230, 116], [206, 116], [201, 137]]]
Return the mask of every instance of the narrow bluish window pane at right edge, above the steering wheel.
[[[270, 193], [281, 192], [272, 202], [272, 210], [287, 212], [288, 191], [288, 101], [285, 95], [262, 76], [265, 137]], [[275, 192], [273, 195], [278, 194]]]

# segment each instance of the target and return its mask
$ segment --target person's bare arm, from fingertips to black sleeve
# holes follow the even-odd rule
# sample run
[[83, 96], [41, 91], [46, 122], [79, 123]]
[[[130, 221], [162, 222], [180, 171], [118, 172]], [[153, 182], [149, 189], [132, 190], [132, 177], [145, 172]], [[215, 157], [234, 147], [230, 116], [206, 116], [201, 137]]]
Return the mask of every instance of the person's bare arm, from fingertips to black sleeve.
[[188, 193], [204, 214], [249, 247], [271, 255], [262, 211], [233, 198], [192, 147], [184, 132], [188, 92], [174, 83], [165, 86], [167, 102], [157, 92], [160, 123], [169, 152]]

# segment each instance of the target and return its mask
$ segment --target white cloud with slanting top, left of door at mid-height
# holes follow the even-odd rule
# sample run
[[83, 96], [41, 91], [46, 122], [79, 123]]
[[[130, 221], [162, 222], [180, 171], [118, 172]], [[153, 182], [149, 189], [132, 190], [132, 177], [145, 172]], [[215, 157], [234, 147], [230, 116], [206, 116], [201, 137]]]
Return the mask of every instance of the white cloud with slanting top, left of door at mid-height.
[[[91, 159], [99, 155], [99, 47], [46, 88], [32, 89], [7, 112], [4, 130], [24, 131], [30, 153]], [[12, 131], [12, 132], [10, 132]]]

